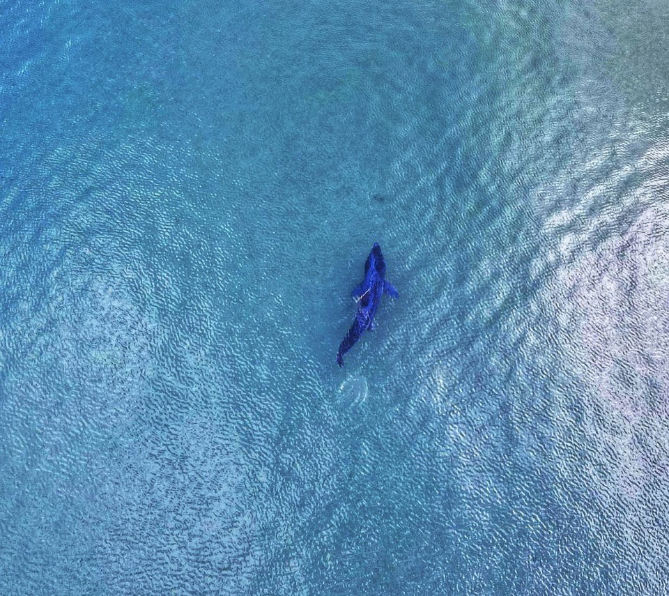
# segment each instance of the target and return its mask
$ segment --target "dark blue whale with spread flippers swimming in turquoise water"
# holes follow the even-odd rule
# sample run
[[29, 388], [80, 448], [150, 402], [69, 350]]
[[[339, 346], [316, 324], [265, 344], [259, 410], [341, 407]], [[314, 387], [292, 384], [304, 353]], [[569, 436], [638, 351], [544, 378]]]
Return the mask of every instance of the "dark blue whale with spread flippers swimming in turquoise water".
[[375, 242], [364, 263], [364, 280], [353, 290], [353, 298], [357, 300], [357, 312], [351, 329], [346, 333], [344, 341], [339, 344], [337, 351], [339, 366], [344, 366], [344, 354], [360, 339], [362, 333], [374, 329], [374, 315], [384, 293], [392, 298], [398, 296], [397, 289], [385, 280], [385, 261], [381, 247]]

